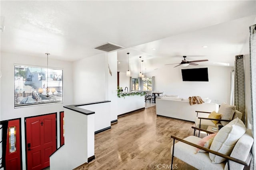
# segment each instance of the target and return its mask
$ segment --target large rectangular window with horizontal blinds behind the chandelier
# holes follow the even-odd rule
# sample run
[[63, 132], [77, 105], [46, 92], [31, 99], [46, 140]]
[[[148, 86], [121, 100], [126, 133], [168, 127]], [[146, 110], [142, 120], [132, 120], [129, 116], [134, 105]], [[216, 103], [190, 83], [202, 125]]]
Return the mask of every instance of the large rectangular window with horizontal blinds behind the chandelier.
[[14, 107], [62, 102], [62, 70], [48, 68], [47, 75], [47, 68], [15, 66], [14, 72]]

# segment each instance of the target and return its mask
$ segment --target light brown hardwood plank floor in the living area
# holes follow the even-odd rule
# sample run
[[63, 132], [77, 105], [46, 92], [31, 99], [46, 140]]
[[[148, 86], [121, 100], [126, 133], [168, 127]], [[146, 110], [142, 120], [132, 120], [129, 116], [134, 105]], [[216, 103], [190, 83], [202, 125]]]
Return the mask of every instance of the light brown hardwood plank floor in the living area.
[[[193, 123], [156, 116], [156, 107], [118, 118], [110, 130], [95, 135], [95, 160], [76, 170], [170, 169], [171, 135], [193, 135]], [[175, 169], [195, 169], [174, 159]]]

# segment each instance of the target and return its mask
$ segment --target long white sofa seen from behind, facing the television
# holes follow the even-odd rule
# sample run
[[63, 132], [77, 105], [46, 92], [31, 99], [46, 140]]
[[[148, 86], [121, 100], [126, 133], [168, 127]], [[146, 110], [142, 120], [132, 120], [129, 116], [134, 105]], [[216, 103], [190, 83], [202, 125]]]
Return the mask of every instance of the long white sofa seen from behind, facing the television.
[[[190, 106], [189, 101], [182, 98], [170, 100], [167, 98], [156, 98], [156, 115], [172, 117], [187, 121], [195, 121], [197, 111], [218, 111], [219, 105], [216, 103], [194, 104]], [[200, 117], [200, 115], [198, 115]], [[205, 117], [201, 116], [201, 117]]]

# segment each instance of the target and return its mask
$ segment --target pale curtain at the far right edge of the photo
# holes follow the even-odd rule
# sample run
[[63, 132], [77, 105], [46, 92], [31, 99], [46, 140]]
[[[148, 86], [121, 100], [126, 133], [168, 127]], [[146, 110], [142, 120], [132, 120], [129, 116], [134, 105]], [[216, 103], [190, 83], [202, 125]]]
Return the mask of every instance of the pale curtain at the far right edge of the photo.
[[[251, 117], [250, 124], [252, 125], [252, 135], [256, 136], [256, 25], [250, 26], [250, 77], [251, 77]], [[256, 162], [256, 147], [255, 143], [252, 149], [252, 161], [250, 169], [254, 170]]]

